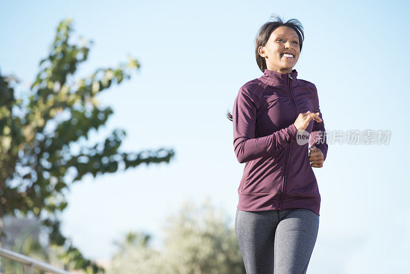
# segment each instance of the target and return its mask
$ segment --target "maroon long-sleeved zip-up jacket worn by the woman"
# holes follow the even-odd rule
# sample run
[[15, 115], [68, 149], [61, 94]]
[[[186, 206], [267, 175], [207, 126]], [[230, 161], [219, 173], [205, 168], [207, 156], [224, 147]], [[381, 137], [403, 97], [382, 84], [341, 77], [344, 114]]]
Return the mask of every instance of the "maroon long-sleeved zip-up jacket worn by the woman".
[[297, 79], [297, 74], [296, 69], [265, 69], [239, 89], [232, 111], [235, 154], [239, 163], [245, 163], [239, 210], [306, 208], [319, 215], [320, 193], [309, 162], [309, 143], [299, 144], [293, 123], [301, 112], [319, 112], [322, 122], [312, 119], [305, 131], [319, 133], [315, 146], [324, 159], [326, 133], [316, 86]]

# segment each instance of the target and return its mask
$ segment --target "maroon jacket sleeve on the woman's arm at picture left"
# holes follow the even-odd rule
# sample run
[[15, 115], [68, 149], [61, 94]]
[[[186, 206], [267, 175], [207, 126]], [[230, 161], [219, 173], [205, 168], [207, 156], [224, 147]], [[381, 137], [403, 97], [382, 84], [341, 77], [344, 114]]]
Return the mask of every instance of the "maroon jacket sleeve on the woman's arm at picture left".
[[256, 106], [252, 97], [249, 89], [241, 87], [232, 110], [234, 149], [239, 163], [273, 155], [296, 140], [297, 129], [293, 123], [273, 134], [255, 138]]

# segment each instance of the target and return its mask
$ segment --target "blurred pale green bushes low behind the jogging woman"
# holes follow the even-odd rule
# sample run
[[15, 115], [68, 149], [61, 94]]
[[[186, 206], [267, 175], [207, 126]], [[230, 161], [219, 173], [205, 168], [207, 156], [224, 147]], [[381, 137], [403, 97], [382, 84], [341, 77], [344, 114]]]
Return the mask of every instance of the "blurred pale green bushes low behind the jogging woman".
[[113, 257], [109, 274], [245, 273], [235, 228], [209, 200], [202, 207], [187, 202], [163, 225], [162, 250], [150, 247], [149, 235], [130, 232]]

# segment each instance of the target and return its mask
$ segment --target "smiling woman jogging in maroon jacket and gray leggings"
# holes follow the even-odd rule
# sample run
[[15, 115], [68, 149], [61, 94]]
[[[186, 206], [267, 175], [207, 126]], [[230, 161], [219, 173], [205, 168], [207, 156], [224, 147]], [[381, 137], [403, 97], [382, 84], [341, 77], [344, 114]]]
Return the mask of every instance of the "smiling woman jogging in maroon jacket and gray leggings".
[[322, 167], [327, 154], [316, 86], [293, 69], [303, 27], [273, 17], [255, 41], [263, 75], [239, 89], [228, 112], [235, 154], [245, 163], [235, 227], [248, 274], [306, 272], [319, 228], [312, 167]]

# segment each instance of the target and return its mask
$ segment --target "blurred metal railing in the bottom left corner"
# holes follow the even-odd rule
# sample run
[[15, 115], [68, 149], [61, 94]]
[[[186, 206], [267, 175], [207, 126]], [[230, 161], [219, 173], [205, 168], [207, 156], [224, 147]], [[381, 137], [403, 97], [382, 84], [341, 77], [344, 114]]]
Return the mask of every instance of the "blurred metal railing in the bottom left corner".
[[34, 274], [34, 268], [38, 268], [43, 271], [51, 272], [53, 274], [71, 274], [69, 271], [52, 266], [43, 261], [39, 261], [28, 257], [26, 255], [5, 249], [0, 247], [0, 257], [4, 257], [25, 265], [25, 274]]

